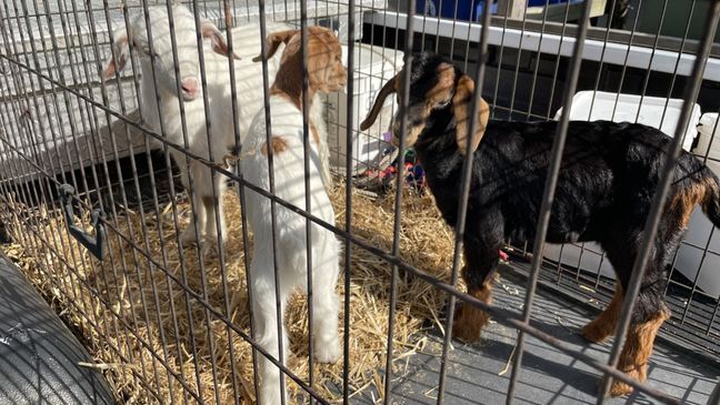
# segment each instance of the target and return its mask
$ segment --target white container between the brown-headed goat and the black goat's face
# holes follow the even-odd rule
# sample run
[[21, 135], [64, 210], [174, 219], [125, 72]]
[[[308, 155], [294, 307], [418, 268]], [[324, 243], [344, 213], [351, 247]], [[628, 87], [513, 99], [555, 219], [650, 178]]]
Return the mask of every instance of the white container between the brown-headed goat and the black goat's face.
[[[342, 47], [343, 59], [347, 61], [348, 48]], [[353, 104], [352, 104], [352, 174], [359, 174], [372, 166], [381, 152], [389, 146], [383, 133], [388, 132], [392, 114], [394, 113], [396, 98], [388, 97], [380, 111], [380, 115], [367, 131], [359, 131], [360, 122], [372, 108], [377, 93], [382, 85], [393, 78], [402, 68], [402, 52], [381, 47], [358, 43], [354, 47], [354, 74], [353, 74]], [[347, 64], [347, 63], [346, 63]], [[344, 91], [328, 94], [328, 144], [330, 146], [330, 164], [346, 168], [348, 154], [347, 143], [347, 88]]]

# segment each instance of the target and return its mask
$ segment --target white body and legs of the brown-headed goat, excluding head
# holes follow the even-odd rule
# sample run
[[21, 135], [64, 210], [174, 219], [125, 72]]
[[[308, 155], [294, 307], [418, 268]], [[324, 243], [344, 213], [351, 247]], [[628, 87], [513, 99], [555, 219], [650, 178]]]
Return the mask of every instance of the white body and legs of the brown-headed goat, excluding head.
[[[282, 152], [273, 153], [274, 194], [299, 207], [306, 206], [304, 155], [302, 143], [302, 113], [282, 98], [270, 98], [272, 136], [278, 136], [286, 145]], [[266, 145], [264, 112], [260, 111], [252, 122], [247, 144], [254, 153], [242, 159], [246, 179], [270, 191], [268, 156], [262, 152]], [[318, 148], [310, 143], [310, 212], [334, 225], [334, 212], [323, 188], [320, 174]], [[272, 251], [277, 252], [279, 280], [280, 314], [289, 294], [298, 286], [307, 291], [307, 240], [306, 219], [280, 204], [276, 204], [276, 243], [272, 245], [272, 221], [270, 200], [248, 189], [248, 220], [254, 234], [254, 249], [250, 266], [251, 288], [254, 311], [254, 327], [258, 343], [273, 357], [279, 358], [278, 317], [276, 305], [276, 282]], [[340, 245], [334, 234], [311, 223], [312, 250], [312, 303], [314, 333], [314, 356], [319, 362], [338, 361], [341, 354], [338, 340], [339, 300], [334, 292], [338, 281], [338, 255]], [[282, 321], [282, 317], [281, 317]], [[284, 358], [289, 354], [288, 336], [284, 325], [282, 347]], [[280, 404], [284, 387], [280, 386], [279, 369], [264, 356], [260, 356], [260, 398], [264, 405]], [[284, 364], [284, 358], [282, 358]]]

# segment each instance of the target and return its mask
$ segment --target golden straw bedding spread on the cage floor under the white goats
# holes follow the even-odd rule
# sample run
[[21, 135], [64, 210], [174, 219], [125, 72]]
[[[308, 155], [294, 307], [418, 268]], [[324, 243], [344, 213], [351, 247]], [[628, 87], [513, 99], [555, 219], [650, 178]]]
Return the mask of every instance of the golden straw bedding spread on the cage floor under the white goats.
[[[229, 192], [224, 200], [230, 230], [224, 272], [217, 254], [204, 257], [204, 273], [201, 272], [194, 247], [183, 250], [184, 266], [181, 265], [172, 204], [143, 215], [138, 210], [119, 209], [120, 214], [112, 224], [129, 241], [110, 230], [103, 262], [92, 259], [73, 240], [68, 240], [64, 231], [58, 232], [64, 227], [58, 212], [40, 210], [31, 220], [14, 217], [16, 226], [12, 229], [17, 243], [6, 245], [6, 252], [20, 262], [66, 323], [81, 336], [96, 361], [87, 366], [102, 369], [119, 401], [129, 404], [169, 403], [170, 398], [183, 402], [183, 395], [187, 395], [183, 394], [183, 384], [199, 391], [207, 403], [253, 401], [250, 345], [186, 294], [164, 270], [148, 260], [149, 256], [167, 267], [178, 281], [187, 280], [193, 292], [249, 334], [240, 206], [236, 193]], [[342, 229], [344, 188], [337, 188], [331, 200], [338, 226]], [[392, 195], [371, 200], [353, 191], [353, 233], [389, 252], [393, 204]], [[182, 229], [191, 216], [187, 199], [179, 201], [176, 207]], [[10, 210], [13, 213], [22, 211], [17, 204]], [[28, 226], [44, 241], [43, 245], [27, 239], [31, 233]], [[130, 241], [148, 255], [133, 249]], [[400, 246], [404, 261], [449, 280], [452, 233], [441, 220], [431, 196], [410, 195], [408, 192], [403, 199]], [[352, 395], [373, 391], [373, 395], [382, 396], [390, 273], [388, 263], [358, 246], [352, 247], [349, 375]], [[344, 294], [342, 276], [338, 292]], [[223, 298], [226, 295], [228, 301]], [[400, 280], [393, 331], [396, 376], [402, 375], [408, 357], [423, 348], [426, 340], [419, 334], [423, 325], [433, 324], [442, 328], [439, 312], [444, 298], [444, 294], [424, 282]], [[290, 303], [286, 318], [293, 352], [289, 365], [306, 381], [309, 374], [307, 315], [307, 302], [298, 294]], [[341, 312], [341, 318], [342, 315]], [[341, 322], [341, 334], [342, 327]], [[324, 397], [333, 402], [341, 398], [342, 361], [333, 365], [316, 365], [314, 375], [316, 388]], [[147, 381], [149, 389], [140, 381]], [[233, 386], [240, 398], [232, 397]], [[290, 384], [290, 395], [300, 395], [299, 392], [294, 384]], [[187, 399], [190, 403], [197, 401], [192, 396]]]

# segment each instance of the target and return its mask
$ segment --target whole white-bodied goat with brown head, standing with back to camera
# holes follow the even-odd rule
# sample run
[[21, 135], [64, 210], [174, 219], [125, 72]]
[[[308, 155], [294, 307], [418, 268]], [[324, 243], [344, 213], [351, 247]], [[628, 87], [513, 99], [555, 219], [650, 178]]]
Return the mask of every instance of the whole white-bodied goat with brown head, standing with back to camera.
[[[306, 206], [304, 155], [302, 142], [302, 58], [300, 52], [300, 31], [276, 32], [268, 37], [270, 53], [280, 43], [287, 43], [280, 69], [270, 89], [271, 138], [267, 142], [264, 111], [261, 110], [252, 121], [247, 138], [248, 152], [241, 160], [244, 178], [270, 191], [268, 154], [273, 156], [274, 194], [299, 207]], [[309, 97], [317, 92], [340, 90], [346, 83], [346, 69], [342, 65], [341, 49], [332, 31], [310, 27], [308, 29], [308, 71]], [[309, 123], [312, 131], [313, 122]], [[312, 131], [314, 132], [314, 131]], [[313, 136], [316, 136], [313, 134]], [[310, 212], [334, 224], [334, 212], [322, 185], [318, 148], [310, 142]], [[247, 154], [246, 154], [247, 153]], [[248, 219], [254, 234], [254, 249], [250, 266], [251, 288], [254, 307], [254, 325], [258, 343], [276, 358], [278, 347], [278, 316], [276, 305], [276, 280], [273, 247], [277, 252], [279, 277], [280, 314], [284, 314], [288, 295], [298, 286], [307, 291], [307, 245], [306, 217], [276, 205], [276, 242], [272, 245], [273, 224], [270, 214], [270, 200], [248, 190]], [[336, 362], [341, 354], [338, 340], [339, 300], [334, 292], [338, 281], [338, 255], [340, 245], [333, 233], [312, 223], [310, 225], [312, 252], [312, 303], [316, 351], [319, 362]], [[282, 320], [282, 317], [280, 318]], [[288, 337], [282, 322], [283, 357], [287, 357]], [[260, 356], [260, 398], [263, 405], [280, 403], [284, 387], [280, 386], [279, 369], [264, 356]], [[284, 358], [281, 361], [284, 362]]]

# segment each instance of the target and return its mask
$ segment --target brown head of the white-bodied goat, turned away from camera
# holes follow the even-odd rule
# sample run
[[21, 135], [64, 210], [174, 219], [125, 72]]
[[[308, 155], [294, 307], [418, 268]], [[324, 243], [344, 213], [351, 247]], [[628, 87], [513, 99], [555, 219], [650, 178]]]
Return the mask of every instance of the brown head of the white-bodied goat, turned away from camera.
[[[276, 77], [282, 89], [302, 84], [302, 36], [300, 30], [268, 34], [268, 59], [286, 44]], [[342, 48], [338, 36], [324, 27], [308, 27], [308, 84], [312, 92], [339, 91], [346, 85], [348, 72], [342, 64]], [[261, 57], [253, 59], [256, 62]]]

